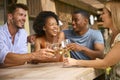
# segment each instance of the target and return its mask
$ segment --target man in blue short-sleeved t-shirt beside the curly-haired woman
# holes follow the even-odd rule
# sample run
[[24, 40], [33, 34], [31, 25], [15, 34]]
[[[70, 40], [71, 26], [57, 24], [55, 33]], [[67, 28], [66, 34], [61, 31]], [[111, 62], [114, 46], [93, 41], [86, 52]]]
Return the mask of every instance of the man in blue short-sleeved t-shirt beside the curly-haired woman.
[[67, 47], [75, 59], [91, 60], [102, 58], [104, 40], [99, 30], [93, 30], [89, 25], [89, 14], [78, 10], [72, 14], [72, 30], [64, 30], [65, 37], [71, 41]]

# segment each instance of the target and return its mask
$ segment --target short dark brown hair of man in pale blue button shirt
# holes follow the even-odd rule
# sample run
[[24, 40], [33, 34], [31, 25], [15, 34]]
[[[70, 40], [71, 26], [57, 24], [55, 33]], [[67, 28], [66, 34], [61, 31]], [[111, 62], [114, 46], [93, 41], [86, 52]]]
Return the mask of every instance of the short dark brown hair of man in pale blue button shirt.
[[7, 7], [7, 13], [14, 13], [14, 11], [16, 10], [16, 8], [22, 8], [24, 10], [28, 10], [28, 7], [27, 5], [25, 4], [22, 4], [22, 3], [13, 3], [13, 4], [10, 4], [8, 7]]

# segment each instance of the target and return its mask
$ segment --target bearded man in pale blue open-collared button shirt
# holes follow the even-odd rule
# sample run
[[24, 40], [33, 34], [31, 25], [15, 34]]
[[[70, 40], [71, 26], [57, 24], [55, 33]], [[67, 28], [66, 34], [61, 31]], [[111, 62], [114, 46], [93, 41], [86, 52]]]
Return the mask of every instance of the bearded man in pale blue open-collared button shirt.
[[27, 33], [24, 30], [27, 6], [11, 4], [7, 8], [7, 22], [0, 26], [0, 67], [16, 66], [31, 60], [53, 57], [53, 50], [41, 49], [27, 53]]

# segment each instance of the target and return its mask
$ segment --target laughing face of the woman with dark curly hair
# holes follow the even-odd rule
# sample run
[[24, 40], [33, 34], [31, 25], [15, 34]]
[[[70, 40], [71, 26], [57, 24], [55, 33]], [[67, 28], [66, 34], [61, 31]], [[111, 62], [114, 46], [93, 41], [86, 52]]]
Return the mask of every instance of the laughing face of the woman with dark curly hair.
[[48, 35], [57, 36], [59, 32], [59, 27], [55, 18], [49, 17], [46, 19], [44, 31]]

